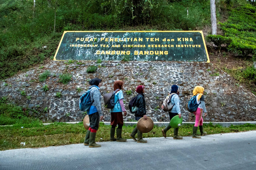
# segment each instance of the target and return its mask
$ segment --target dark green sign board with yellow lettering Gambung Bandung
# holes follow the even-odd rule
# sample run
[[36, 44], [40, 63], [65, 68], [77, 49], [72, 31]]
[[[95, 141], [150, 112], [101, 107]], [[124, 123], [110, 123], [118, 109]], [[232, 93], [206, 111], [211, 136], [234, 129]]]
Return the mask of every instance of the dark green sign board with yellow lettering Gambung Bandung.
[[210, 62], [202, 31], [64, 31], [54, 60]]

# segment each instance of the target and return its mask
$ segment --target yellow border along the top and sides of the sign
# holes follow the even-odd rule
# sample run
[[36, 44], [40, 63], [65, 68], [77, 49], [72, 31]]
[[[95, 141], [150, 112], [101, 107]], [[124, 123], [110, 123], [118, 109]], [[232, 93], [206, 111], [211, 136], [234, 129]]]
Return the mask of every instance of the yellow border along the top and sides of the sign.
[[207, 56], [207, 63], [210, 63], [210, 58], [209, 58], [209, 55], [208, 55], [208, 51], [207, 51], [207, 48], [206, 48], [206, 43], [205, 43], [205, 40], [204, 40], [204, 34], [203, 34], [203, 31], [64, 31], [63, 32], [63, 35], [60, 39], [60, 43], [58, 45], [58, 48], [56, 50], [56, 53], [54, 55], [54, 61], [62, 61], [62, 60], [56, 60], [56, 55], [60, 49], [60, 45], [62, 43], [62, 40], [63, 40], [63, 37], [66, 33], [76, 33], [76, 32], [79, 32], [79, 33], [134, 33], [134, 32], [157, 32], [157, 33], [161, 33], [161, 32], [168, 32], [168, 33], [174, 33], [174, 32], [199, 32], [201, 33], [202, 35], [202, 39], [203, 39], [203, 42], [204, 42], [204, 49], [206, 51], [206, 56]]

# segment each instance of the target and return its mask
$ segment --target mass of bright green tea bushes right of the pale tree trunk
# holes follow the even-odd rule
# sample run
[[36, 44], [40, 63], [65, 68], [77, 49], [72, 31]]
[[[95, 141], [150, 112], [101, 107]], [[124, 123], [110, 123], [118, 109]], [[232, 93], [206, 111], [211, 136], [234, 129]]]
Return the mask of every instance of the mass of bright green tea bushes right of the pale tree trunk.
[[228, 20], [220, 23], [224, 36], [230, 38], [228, 49], [244, 57], [256, 53], [256, 7], [250, 4], [230, 11]]

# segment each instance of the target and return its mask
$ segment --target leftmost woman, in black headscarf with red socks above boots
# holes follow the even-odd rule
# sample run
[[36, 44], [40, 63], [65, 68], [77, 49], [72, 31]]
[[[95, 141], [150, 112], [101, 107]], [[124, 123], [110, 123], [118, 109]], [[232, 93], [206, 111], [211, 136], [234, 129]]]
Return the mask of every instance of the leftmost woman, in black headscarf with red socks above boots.
[[90, 125], [89, 129], [86, 132], [86, 136], [84, 139], [84, 145], [89, 145], [89, 147], [101, 147], [95, 143], [96, 132], [100, 125], [100, 120], [103, 119], [103, 114], [101, 111], [101, 95], [100, 95], [100, 86], [101, 79], [93, 78], [90, 80], [89, 84], [91, 85], [89, 89], [90, 98], [93, 101], [92, 106], [88, 109], [87, 114], [89, 115]]

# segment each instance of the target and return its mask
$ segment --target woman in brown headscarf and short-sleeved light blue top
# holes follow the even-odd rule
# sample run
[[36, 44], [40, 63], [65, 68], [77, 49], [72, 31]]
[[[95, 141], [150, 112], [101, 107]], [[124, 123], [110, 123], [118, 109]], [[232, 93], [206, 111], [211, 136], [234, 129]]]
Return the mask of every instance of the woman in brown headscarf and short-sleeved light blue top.
[[[124, 116], [126, 116], [126, 110], [124, 108], [124, 102], [123, 102], [123, 88], [124, 82], [121, 80], [116, 80], [114, 82], [114, 91], [115, 91], [115, 106], [113, 109], [110, 109], [111, 114], [111, 123], [112, 126], [110, 129], [110, 141], [117, 141], [117, 142], [126, 142], [126, 139], [122, 138], [122, 126], [124, 125], [124, 119], [122, 112], [124, 112]], [[116, 125], [118, 125], [118, 128], [116, 129]], [[116, 130], [116, 138], [114, 138]]]

